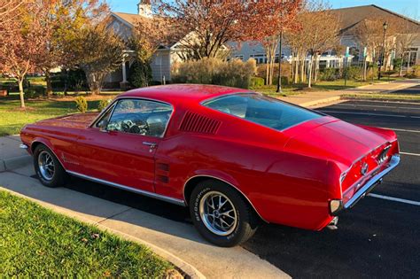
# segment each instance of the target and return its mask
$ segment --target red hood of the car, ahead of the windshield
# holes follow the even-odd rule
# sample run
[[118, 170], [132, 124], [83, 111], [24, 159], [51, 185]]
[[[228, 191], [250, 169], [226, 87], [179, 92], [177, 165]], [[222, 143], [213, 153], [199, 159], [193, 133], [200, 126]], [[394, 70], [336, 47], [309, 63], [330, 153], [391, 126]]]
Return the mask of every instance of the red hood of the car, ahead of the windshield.
[[35, 123], [36, 126], [50, 126], [60, 128], [86, 128], [97, 117], [97, 112], [74, 113]]

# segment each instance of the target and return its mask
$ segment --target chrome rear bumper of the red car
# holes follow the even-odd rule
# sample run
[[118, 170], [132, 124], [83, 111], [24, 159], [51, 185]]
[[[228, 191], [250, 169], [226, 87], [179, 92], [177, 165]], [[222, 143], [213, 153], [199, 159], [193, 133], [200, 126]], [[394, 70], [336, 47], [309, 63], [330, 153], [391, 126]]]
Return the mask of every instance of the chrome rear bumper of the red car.
[[391, 172], [394, 167], [397, 167], [398, 164], [400, 164], [400, 155], [395, 154], [393, 157], [391, 157], [390, 161], [388, 162], [388, 165], [385, 169], [383, 169], [380, 173], [373, 176], [368, 182], [366, 182], [361, 189], [357, 190], [357, 192], [354, 193], [354, 196], [346, 201], [346, 204], [342, 204], [339, 206], [338, 210], [334, 211], [334, 213], [331, 213], [332, 216], [337, 216], [339, 213], [343, 212], [346, 209], [349, 209], [353, 207], [357, 202], [364, 198], [371, 190], [377, 186], [380, 182], [382, 182], [382, 178]]

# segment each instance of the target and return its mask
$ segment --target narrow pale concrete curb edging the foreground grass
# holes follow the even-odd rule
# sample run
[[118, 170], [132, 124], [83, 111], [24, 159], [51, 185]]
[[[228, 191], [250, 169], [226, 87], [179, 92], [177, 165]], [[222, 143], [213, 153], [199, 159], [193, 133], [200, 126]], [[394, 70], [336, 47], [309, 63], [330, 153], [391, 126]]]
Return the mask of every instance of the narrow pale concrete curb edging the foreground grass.
[[167, 260], [167, 261], [171, 262], [176, 268], [181, 270], [182, 273], [187, 276], [187, 278], [206, 279], [206, 276], [203, 275], [201, 272], [199, 272], [196, 267], [193, 267], [188, 262], [176, 257], [173, 253], [167, 252], [165, 249], [160, 248], [160, 247], [158, 247], [154, 244], [151, 244], [151, 243], [149, 243], [149, 242], [147, 242], [147, 241], [145, 241], [141, 238], [138, 238], [136, 236], [130, 236], [130, 235], [128, 235], [124, 232], [121, 232], [117, 229], [109, 228], [109, 227], [107, 227], [107, 226], [105, 226], [101, 223], [98, 223], [97, 221], [91, 221], [87, 218], [83, 218], [82, 216], [76, 216], [76, 215], [72, 215], [72, 214], [61, 213], [61, 212], [55, 210], [54, 206], [45, 206], [38, 199], [27, 197], [23, 194], [20, 194], [19, 192], [15, 192], [13, 190], [9, 190], [9, 189], [1, 187], [1, 186], [0, 186], [0, 190], [8, 191], [8, 192], [12, 193], [13, 195], [18, 196], [20, 198], [26, 198], [28, 200], [31, 200], [31, 201], [35, 202], [38, 205], [41, 205], [43, 207], [46, 207], [46, 208], [52, 210], [53, 212], [66, 215], [67, 217], [73, 218], [74, 220], [82, 221], [82, 222], [87, 223], [87, 224], [92, 225], [92, 226], [96, 226], [98, 229], [103, 229], [103, 230], [108, 231], [108, 232], [110, 232], [114, 235], [120, 236], [121, 238], [124, 238], [128, 241], [136, 242], [138, 244], [143, 244], [144, 246], [149, 248], [152, 252], [157, 254], [160, 258], [163, 258], [164, 260]]

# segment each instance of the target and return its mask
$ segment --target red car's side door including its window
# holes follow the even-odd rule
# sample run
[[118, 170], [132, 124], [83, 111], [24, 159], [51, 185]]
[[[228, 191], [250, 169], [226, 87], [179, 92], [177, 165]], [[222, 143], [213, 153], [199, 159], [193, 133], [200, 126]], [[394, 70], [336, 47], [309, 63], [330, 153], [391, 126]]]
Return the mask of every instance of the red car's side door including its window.
[[154, 155], [171, 113], [171, 105], [157, 101], [118, 100], [78, 142], [83, 174], [154, 192]]

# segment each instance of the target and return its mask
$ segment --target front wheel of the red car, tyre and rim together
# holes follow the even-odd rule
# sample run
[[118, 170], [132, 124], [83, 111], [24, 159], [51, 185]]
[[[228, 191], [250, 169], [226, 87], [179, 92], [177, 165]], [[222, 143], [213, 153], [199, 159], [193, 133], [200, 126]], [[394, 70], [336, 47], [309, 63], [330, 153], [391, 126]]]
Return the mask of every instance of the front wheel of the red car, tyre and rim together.
[[43, 185], [51, 188], [64, 185], [66, 171], [54, 153], [43, 144], [35, 148], [34, 167], [38, 179]]

